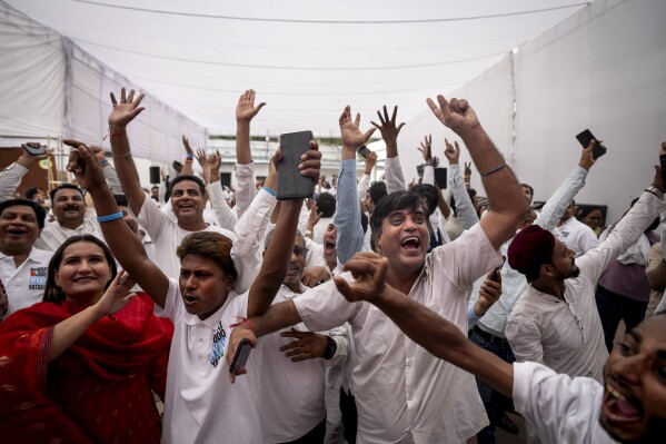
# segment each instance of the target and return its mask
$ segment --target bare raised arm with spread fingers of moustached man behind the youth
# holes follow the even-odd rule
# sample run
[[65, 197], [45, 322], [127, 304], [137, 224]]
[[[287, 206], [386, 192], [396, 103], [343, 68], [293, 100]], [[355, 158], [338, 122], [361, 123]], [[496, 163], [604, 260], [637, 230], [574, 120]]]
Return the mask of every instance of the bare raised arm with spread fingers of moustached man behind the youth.
[[[145, 108], [140, 107], [143, 95], [140, 93], [135, 100], [135, 90], [132, 89], [129, 96], [126, 96], [125, 88], [122, 88], [120, 90], [120, 101], [116, 100], [113, 92], [110, 96], [111, 105], [113, 106], [109, 115], [111, 155], [113, 156], [113, 164], [116, 165], [116, 172], [118, 172], [122, 191], [127, 196], [130, 208], [138, 215], [143, 206], [146, 193], [141, 188], [137, 166], [132, 158], [129, 138], [127, 137], [127, 126], [143, 111]], [[99, 213], [98, 210], [98, 214], [105, 213]]]

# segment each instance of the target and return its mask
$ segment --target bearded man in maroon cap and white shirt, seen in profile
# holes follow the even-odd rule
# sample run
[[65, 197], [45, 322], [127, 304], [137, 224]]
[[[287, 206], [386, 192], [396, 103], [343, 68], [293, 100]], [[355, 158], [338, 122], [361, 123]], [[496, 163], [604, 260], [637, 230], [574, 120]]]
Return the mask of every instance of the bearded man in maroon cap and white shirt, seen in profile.
[[608, 351], [594, 297], [597, 280], [665, 208], [662, 178], [655, 176], [608, 238], [578, 259], [550, 231], [536, 225], [516, 235], [508, 262], [529, 283], [505, 330], [517, 361], [602, 381]]

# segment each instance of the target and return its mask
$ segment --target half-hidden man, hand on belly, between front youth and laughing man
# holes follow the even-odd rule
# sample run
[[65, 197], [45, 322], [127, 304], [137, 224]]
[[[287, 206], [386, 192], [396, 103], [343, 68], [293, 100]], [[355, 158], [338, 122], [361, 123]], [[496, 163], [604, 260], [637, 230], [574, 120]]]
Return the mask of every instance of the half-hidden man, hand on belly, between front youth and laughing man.
[[[274, 233], [266, 237], [267, 248]], [[306, 265], [305, 246], [304, 236], [297, 233], [287, 275], [274, 304], [292, 300], [306, 292], [300, 283]], [[296, 341], [288, 339], [290, 337]], [[267, 335], [261, 347], [264, 442], [324, 442], [327, 417], [325, 371], [347, 358], [347, 330], [314, 333], [300, 323], [291, 329]], [[289, 408], [285, 408], [286, 405]]]

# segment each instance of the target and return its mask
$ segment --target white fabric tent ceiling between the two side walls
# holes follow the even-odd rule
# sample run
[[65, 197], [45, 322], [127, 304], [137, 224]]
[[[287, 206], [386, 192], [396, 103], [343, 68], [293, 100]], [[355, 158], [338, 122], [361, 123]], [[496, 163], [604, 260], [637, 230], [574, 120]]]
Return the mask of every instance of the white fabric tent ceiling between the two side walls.
[[247, 88], [268, 105], [252, 134], [338, 134], [345, 105], [401, 120], [584, 8], [576, 0], [160, 2], [9, 0], [210, 134], [235, 134]]

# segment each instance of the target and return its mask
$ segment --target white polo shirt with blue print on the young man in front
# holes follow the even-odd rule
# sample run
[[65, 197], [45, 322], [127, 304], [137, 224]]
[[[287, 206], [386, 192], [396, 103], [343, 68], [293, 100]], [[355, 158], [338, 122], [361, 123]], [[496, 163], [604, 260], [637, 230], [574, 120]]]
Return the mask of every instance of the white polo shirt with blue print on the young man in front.
[[226, 362], [231, 324], [247, 316], [248, 293], [229, 293], [225, 305], [201, 320], [185, 309], [178, 282], [169, 279], [163, 310], [173, 323], [167, 372], [162, 443], [257, 443], [261, 435], [261, 345], [247, 375], [229, 382]]

